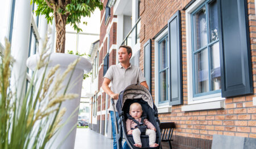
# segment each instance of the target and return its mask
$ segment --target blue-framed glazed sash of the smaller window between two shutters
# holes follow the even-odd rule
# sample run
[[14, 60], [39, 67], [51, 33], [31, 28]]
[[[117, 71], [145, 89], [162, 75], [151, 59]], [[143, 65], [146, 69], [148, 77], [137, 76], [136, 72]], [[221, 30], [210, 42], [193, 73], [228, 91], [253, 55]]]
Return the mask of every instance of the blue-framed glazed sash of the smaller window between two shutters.
[[164, 36], [158, 42], [158, 82], [159, 82], [159, 104], [168, 101], [168, 36]]

